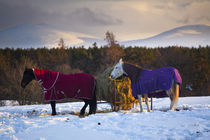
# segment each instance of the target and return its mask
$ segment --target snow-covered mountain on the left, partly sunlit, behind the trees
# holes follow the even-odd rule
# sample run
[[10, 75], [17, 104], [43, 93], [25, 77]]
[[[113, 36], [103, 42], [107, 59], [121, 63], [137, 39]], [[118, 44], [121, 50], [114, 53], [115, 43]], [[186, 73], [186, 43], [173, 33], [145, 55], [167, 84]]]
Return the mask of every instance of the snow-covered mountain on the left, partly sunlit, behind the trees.
[[20, 25], [0, 31], [0, 48], [52, 48], [58, 47], [59, 40], [63, 38], [66, 46], [92, 46], [94, 42], [105, 43], [90, 35], [67, 32], [56, 29], [50, 25]]

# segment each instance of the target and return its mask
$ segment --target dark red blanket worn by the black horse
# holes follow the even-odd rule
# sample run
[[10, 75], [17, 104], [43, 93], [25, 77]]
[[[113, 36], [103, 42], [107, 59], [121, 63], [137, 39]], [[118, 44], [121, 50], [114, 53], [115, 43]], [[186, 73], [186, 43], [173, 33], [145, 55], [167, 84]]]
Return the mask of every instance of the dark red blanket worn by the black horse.
[[61, 74], [40, 69], [34, 69], [34, 74], [44, 90], [45, 101], [93, 97], [95, 79], [90, 74]]

